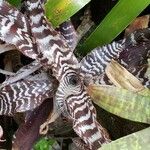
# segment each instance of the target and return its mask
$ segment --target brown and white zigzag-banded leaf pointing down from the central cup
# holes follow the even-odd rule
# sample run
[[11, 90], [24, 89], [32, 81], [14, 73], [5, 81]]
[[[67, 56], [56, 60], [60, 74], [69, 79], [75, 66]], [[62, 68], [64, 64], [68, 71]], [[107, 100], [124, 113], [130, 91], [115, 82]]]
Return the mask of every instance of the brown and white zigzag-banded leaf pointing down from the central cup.
[[84, 107], [85, 105], [72, 104], [72, 107], [76, 107], [71, 112], [75, 117], [73, 129], [91, 150], [98, 149], [101, 145], [107, 144], [111, 140], [106, 129], [96, 121], [93, 115], [95, 108], [92, 103], [86, 102], [85, 104], [87, 104], [86, 107]]

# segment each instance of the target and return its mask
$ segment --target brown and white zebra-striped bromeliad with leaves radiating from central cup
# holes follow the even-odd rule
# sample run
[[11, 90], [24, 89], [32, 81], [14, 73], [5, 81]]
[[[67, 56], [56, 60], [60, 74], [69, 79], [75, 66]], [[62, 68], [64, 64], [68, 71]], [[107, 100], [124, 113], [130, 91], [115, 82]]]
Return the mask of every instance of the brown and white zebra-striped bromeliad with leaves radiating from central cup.
[[[98, 47], [79, 62], [73, 53], [77, 45], [73, 25], [68, 21], [55, 30], [45, 18], [44, 2], [25, 0], [24, 11], [21, 12], [4, 0], [0, 1], [0, 39], [5, 42], [1, 44], [1, 53], [15, 48], [34, 60], [2, 83], [0, 115], [35, 109], [36, 113], [30, 114], [14, 138], [13, 148], [20, 148], [17, 140], [20, 140], [21, 131], [26, 130], [29, 124], [32, 127], [34, 115], [44, 115], [44, 110], [47, 110], [44, 103], [49, 104], [45, 99], [50, 99], [58, 115], [62, 114], [72, 122], [74, 131], [81, 138], [74, 140], [77, 147], [98, 149], [111, 139], [96, 119], [96, 110], [86, 86], [91, 83], [108, 84], [104, 72], [112, 59], [117, 59], [129, 69], [130, 62], [125, 62], [121, 57], [123, 52], [128, 54], [130, 49], [144, 49], [144, 56], [139, 61], [143, 57], [148, 58], [150, 29], [137, 30], [123, 40]], [[40, 73], [33, 75], [37, 70]], [[141, 70], [133, 74], [138, 78], [143, 77]], [[144, 80], [143, 84], [149, 87], [149, 80]], [[43, 122], [39, 120], [36, 131]], [[32, 138], [30, 141], [30, 148], [35, 140]]]

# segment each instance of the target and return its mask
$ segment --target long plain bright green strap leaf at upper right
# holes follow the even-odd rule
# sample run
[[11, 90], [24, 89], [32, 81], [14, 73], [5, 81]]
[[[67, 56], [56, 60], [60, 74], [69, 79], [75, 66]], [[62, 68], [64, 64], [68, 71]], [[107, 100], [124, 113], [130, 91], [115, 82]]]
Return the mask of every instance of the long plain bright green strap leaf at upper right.
[[92, 32], [85, 43], [79, 48], [79, 53], [85, 55], [97, 46], [110, 43], [149, 4], [149, 0], [119, 0], [96, 30]]

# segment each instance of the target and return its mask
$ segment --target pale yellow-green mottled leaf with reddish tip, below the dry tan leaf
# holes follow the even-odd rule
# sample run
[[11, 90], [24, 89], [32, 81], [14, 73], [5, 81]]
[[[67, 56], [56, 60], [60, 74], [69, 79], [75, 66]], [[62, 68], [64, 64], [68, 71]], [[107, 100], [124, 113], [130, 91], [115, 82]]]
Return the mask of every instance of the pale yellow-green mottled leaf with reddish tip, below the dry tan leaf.
[[93, 101], [119, 117], [150, 124], [150, 90], [135, 93], [114, 86], [90, 85]]

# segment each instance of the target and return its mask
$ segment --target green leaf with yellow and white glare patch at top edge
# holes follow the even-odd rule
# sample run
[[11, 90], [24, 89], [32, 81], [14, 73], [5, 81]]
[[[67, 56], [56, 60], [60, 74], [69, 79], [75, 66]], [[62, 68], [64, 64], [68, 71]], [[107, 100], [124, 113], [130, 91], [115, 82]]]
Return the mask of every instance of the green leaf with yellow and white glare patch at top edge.
[[89, 2], [90, 0], [47, 0], [45, 4], [46, 16], [56, 27]]

